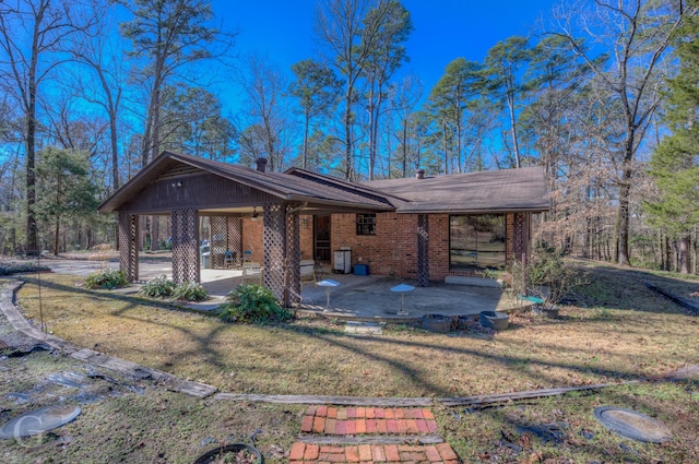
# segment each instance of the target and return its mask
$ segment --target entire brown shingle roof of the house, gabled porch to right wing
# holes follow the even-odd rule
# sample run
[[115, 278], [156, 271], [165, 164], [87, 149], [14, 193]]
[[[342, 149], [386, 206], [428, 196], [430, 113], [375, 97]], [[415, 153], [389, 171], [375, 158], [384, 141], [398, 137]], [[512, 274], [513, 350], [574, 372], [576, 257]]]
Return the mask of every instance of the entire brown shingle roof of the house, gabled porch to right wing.
[[300, 168], [262, 172], [198, 156], [163, 152], [105, 200], [98, 211], [120, 211], [139, 194], [151, 192], [149, 189], [159, 180], [196, 172], [246, 186], [265, 193], [266, 198], [306, 202], [307, 210], [478, 213], [541, 212], [549, 207], [541, 167], [356, 183]]

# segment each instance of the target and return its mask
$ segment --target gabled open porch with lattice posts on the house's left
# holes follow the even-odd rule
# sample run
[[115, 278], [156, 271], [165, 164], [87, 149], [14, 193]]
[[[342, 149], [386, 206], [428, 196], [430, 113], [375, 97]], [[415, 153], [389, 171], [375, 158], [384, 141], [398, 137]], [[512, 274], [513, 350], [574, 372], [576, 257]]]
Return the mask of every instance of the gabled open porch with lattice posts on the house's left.
[[261, 284], [291, 307], [301, 300], [300, 214], [393, 210], [388, 200], [360, 186], [318, 180], [306, 171], [266, 172], [264, 162], [259, 159], [256, 170], [165, 152], [122, 186], [99, 211], [118, 214], [119, 266], [127, 278], [140, 281], [141, 217], [166, 216], [173, 281], [201, 283], [200, 218], [208, 217], [211, 267], [225, 267], [228, 253], [239, 261], [248, 237], [261, 238], [248, 259], [263, 270]]

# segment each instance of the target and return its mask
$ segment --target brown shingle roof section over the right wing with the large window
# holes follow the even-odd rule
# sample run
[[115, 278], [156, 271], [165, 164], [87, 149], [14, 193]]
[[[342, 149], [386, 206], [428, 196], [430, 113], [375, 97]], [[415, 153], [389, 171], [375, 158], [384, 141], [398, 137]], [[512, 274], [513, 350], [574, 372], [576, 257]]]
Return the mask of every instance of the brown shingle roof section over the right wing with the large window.
[[396, 209], [399, 213], [542, 212], [549, 209], [541, 167], [375, 180], [366, 186], [404, 200]]

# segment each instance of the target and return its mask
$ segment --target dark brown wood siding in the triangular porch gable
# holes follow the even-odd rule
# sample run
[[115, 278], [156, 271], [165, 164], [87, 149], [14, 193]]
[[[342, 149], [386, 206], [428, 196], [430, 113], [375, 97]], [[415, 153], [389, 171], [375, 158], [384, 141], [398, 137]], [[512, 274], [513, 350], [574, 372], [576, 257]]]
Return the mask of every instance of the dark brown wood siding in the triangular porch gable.
[[[181, 187], [177, 183], [181, 182]], [[149, 185], [121, 210], [133, 213], [168, 213], [176, 207], [208, 210], [260, 206], [277, 198], [222, 177], [204, 174], [168, 177]]]

